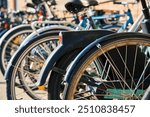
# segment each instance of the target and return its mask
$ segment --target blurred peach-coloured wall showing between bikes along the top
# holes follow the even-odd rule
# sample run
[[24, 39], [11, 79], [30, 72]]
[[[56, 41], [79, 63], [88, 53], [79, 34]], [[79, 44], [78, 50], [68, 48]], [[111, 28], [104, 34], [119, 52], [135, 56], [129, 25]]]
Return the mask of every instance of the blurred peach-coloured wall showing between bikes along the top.
[[[59, 4], [56, 5], [56, 9], [57, 12], [59, 11], [65, 11], [65, 7], [64, 7], [64, 2], [65, 0], [55, 0], [56, 2], [58, 2]], [[105, 2], [108, 0], [99, 0], [100, 2]], [[111, 0], [110, 0], [111, 1]], [[134, 0], [116, 0], [116, 1], [134, 1]], [[0, 7], [6, 8], [8, 12], [10, 11], [18, 11], [18, 10], [26, 10], [26, 4], [27, 3], [32, 3], [31, 0], [0, 0]], [[129, 5], [134, 20], [136, 19], [136, 17], [140, 14], [141, 12], [141, 4], [134, 4], [134, 5]], [[109, 3], [105, 3], [105, 4], [100, 4], [98, 6], [96, 6], [97, 9], [103, 9], [103, 10], [122, 10], [124, 9], [124, 7], [122, 5], [114, 5], [112, 2]], [[61, 15], [61, 14], [60, 14]]]

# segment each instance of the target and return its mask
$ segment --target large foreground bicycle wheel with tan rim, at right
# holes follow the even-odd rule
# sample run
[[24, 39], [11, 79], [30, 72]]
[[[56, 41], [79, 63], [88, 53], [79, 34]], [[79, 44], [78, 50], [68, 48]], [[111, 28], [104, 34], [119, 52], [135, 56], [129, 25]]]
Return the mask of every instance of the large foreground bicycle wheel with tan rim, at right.
[[[65, 99], [141, 99], [150, 84], [149, 39], [149, 35], [137, 33], [101, 38], [67, 71]], [[99, 68], [93, 64], [97, 59]]]

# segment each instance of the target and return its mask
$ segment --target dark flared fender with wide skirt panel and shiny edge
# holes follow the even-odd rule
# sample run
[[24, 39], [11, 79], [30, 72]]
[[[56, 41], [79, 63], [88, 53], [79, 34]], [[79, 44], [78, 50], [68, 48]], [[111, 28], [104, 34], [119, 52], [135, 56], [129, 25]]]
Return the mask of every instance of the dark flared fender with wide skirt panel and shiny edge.
[[[40, 73], [40, 78], [37, 85], [43, 85], [46, 82], [51, 70], [53, 69], [55, 63], [61, 59], [61, 57], [71, 51], [78, 48], [84, 48], [89, 43], [95, 41], [97, 38], [102, 36], [112, 34], [114, 32], [108, 30], [94, 30], [94, 31], [72, 31], [72, 32], [62, 32], [64, 33], [63, 42], [60, 47], [58, 47], [46, 60], [44, 67]], [[67, 34], [69, 33], [69, 34]], [[80, 35], [79, 35], [80, 34]], [[80, 41], [79, 41], [80, 40]]]

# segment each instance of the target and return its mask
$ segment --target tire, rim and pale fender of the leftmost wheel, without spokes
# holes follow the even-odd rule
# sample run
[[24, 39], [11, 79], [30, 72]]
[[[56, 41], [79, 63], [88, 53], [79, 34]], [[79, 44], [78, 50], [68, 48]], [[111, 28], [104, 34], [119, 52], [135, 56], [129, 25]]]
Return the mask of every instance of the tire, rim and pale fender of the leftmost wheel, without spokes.
[[[32, 33], [33, 30], [31, 28], [30, 25], [22, 25], [19, 26], [19, 28], [15, 27], [15, 29], [10, 30], [8, 33], [6, 33], [6, 35], [4, 35], [4, 37], [2, 37], [1, 40], [1, 48], [0, 48], [0, 53], [1, 53], [1, 57], [0, 57], [0, 68], [2, 71], [2, 74], [4, 75], [5, 70], [7, 68], [7, 64], [11, 58], [10, 55], [10, 45], [11, 44], [15, 44], [13, 43], [13, 40], [15, 40], [17, 37], [21, 36], [21, 35], [25, 35], [25, 34], [30, 34]], [[22, 39], [20, 39], [20, 41], [22, 41]], [[10, 44], [11, 43], [11, 44]], [[16, 45], [19, 47], [20, 42], [18, 42]], [[9, 52], [7, 52], [7, 50]], [[14, 50], [15, 51], [15, 50]], [[7, 56], [7, 59], [5, 58], [7, 53], [9, 53], [9, 55]]]

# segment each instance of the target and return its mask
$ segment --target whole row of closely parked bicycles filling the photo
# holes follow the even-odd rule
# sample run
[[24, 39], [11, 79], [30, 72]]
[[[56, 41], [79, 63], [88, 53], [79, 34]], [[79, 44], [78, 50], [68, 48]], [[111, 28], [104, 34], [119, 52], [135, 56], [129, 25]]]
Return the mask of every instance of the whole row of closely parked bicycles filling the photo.
[[[126, 10], [95, 9], [101, 0], [65, 0], [72, 15], [60, 18], [54, 8], [61, 2], [32, 0], [28, 12], [9, 15], [13, 22], [1, 13], [0, 68], [7, 99], [149, 99], [150, 2], [105, 2]], [[128, 5], [138, 2], [143, 10], [134, 21]], [[12, 25], [5, 28], [5, 23]]]

